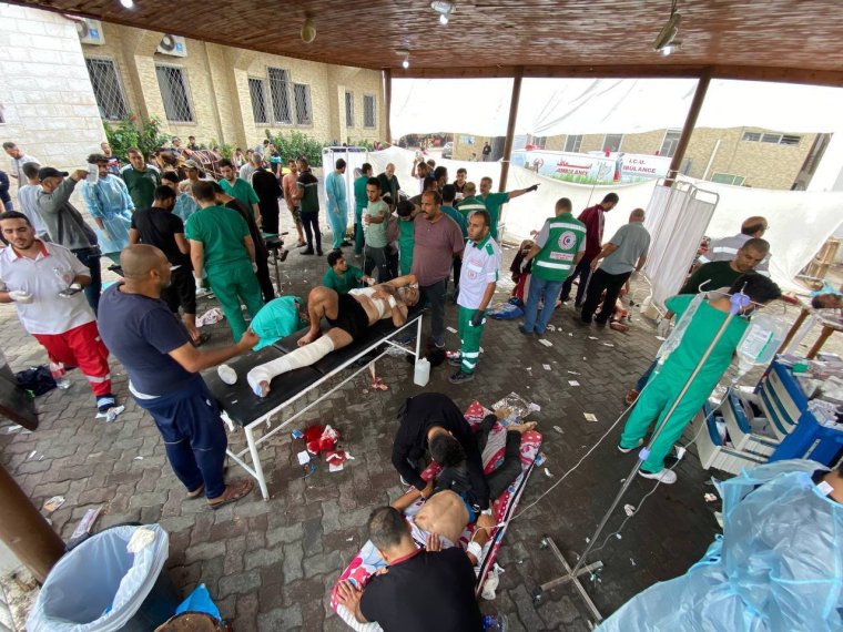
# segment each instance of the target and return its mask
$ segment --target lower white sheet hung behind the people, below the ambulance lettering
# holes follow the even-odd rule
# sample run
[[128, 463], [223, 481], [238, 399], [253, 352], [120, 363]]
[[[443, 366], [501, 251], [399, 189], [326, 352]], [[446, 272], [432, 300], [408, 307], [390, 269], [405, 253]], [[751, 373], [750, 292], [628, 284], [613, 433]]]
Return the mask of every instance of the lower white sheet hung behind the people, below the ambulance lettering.
[[[409, 175], [414, 152], [393, 146], [380, 152], [370, 152], [368, 156], [376, 174], [384, 171], [387, 163], [394, 163], [402, 188], [409, 195], [417, 193], [417, 183], [412, 181]], [[439, 160], [438, 164], [448, 167], [451, 179], [460, 166], [468, 170], [468, 180], [476, 183], [485, 175], [491, 177], [495, 183], [500, 177], [500, 163]], [[843, 223], [843, 193], [768, 191], [690, 179], [689, 182], [719, 196], [714, 214], [704, 231], [709, 237], [724, 237], [739, 233], [741, 223], [750, 215], [763, 215], [768, 218], [770, 228], [764, 238], [770, 242], [773, 255], [770, 272], [772, 277], [783, 285], [790, 285], [791, 279]], [[538, 231], [544, 221], [552, 215], [559, 197], [570, 198], [576, 214], [579, 210], [597, 204], [603, 195], [615, 191], [620, 196], [620, 204], [606, 215], [603, 236], [605, 241], [608, 241], [628, 221], [633, 208], [648, 208], [657, 186], [656, 181], [616, 186], [588, 186], [552, 180], [518, 166], [510, 167], [507, 183], [509, 191], [526, 188], [535, 183], [540, 184], [537, 192], [517, 197], [504, 206], [504, 234], [511, 241], [527, 238], [531, 231]], [[494, 190], [497, 191], [497, 186]], [[680, 210], [674, 212], [679, 213]], [[688, 207], [681, 212], [692, 216], [694, 210]], [[689, 221], [690, 217], [682, 218], [683, 223]], [[669, 234], [660, 238], [682, 243], [684, 248], [695, 248], [695, 243], [687, 243], [688, 237], [683, 237], [684, 234], [683, 231], [681, 235]], [[679, 247], [674, 249], [679, 253], [684, 252]]]

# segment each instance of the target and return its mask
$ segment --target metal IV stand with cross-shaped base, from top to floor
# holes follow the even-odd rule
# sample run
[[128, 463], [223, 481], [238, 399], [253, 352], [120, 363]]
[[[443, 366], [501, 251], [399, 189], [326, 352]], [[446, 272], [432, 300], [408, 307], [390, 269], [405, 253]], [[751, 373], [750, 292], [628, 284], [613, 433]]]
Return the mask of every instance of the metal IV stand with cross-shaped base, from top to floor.
[[732, 322], [732, 319], [738, 314], [740, 308], [749, 305], [749, 298], [745, 295], [740, 294], [740, 293], [734, 294], [731, 298], [731, 302], [732, 302], [732, 307], [729, 310], [729, 315], [727, 316], [725, 320], [723, 320], [723, 324], [720, 326], [720, 329], [718, 330], [717, 335], [714, 336], [714, 338], [711, 340], [711, 344], [705, 349], [705, 353], [702, 355], [702, 358], [700, 358], [700, 361], [697, 364], [693, 371], [685, 380], [684, 386], [682, 387], [682, 390], [679, 393], [679, 396], [673, 401], [673, 405], [670, 407], [670, 410], [668, 410], [668, 414], [664, 416], [664, 419], [659, 425], [659, 427], [656, 428], [656, 430], [653, 431], [652, 436], [650, 437], [650, 441], [647, 444], [646, 447], [641, 448], [641, 451], [638, 453], [638, 460], [636, 461], [636, 465], [632, 467], [631, 471], [629, 472], [629, 476], [627, 476], [627, 479], [623, 481], [623, 485], [618, 491], [618, 495], [615, 497], [615, 500], [612, 501], [611, 506], [603, 514], [602, 519], [600, 520], [600, 523], [597, 526], [597, 529], [595, 530], [593, 534], [588, 541], [588, 547], [586, 547], [586, 550], [582, 551], [582, 554], [579, 557], [579, 560], [577, 561], [577, 563], [571, 568], [571, 565], [565, 559], [565, 555], [562, 555], [562, 553], [559, 551], [558, 547], [556, 546], [556, 543], [550, 537], [545, 536], [541, 539], [541, 548], [542, 549], [550, 548], [550, 551], [562, 564], [562, 568], [565, 568], [566, 574], [555, 580], [551, 580], [549, 582], [542, 583], [541, 585], [534, 589], [532, 599], [535, 603], [538, 603], [539, 601], [541, 601], [541, 597], [546, 590], [551, 590], [556, 588], [557, 585], [571, 582], [573, 587], [577, 589], [577, 592], [579, 593], [579, 595], [582, 598], [582, 601], [586, 603], [586, 606], [595, 616], [596, 622], [599, 623], [600, 621], [602, 621], [603, 618], [600, 614], [600, 611], [597, 609], [597, 605], [595, 605], [595, 602], [591, 601], [591, 598], [589, 597], [585, 587], [580, 582], [579, 577], [586, 573], [590, 574], [593, 571], [600, 570], [601, 568], [603, 568], [603, 563], [602, 561], [597, 561], [597, 562], [592, 562], [586, 565], [586, 558], [588, 557], [589, 552], [597, 543], [598, 539], [600, 538], [600, 534], [606, 528], [606, 524], [609, 522], [609, 518], [611, 517], [612, 512], [620, 503], [621, 499], [623, 498], [623, 495], [629, 489], [629, 486], [632, 485], [632, 479], [634, 478], [636, 473], [641, 467], [641, 463], [643, 463], [647, 460], [647, 458], [650, 456], [650, 447], [659, 437], [659, 435], [661, 435], [661, 431], [664, 429], [664, 426], [667, 425], [668, 420], [670, 419], [670, 417], [673, 415], [673, 411], [679, 406], [679, 402], [682, 401], [682, 398], [684, 397], [685, 393], [688, 393], [688, 389], [691, 387], [691, 384], [693, 383], [694, 378], [699, 375], [700, 369], [705, 364], [705, 360], [709, 359], [711, 351], [714, 349], [714, 345], [717, 345], [720, 338], [722, 338], [723, 334], [727, 330], [727, 327], [729, 327], [729, 324]]

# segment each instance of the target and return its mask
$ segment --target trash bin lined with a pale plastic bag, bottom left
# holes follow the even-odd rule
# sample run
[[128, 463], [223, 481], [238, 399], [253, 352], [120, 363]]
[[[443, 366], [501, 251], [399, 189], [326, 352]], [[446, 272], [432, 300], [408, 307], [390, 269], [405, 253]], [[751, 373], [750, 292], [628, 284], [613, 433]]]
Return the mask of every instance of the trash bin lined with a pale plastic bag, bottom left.
[[[143, 549], [126, 544], [139, 529], [153, 534]], [[149, 632], [181, 599], [164, 571], [170, 538], [158, 524], [114, 527], [67, 553], [50, 571], [27, 620], [29, 632]]]

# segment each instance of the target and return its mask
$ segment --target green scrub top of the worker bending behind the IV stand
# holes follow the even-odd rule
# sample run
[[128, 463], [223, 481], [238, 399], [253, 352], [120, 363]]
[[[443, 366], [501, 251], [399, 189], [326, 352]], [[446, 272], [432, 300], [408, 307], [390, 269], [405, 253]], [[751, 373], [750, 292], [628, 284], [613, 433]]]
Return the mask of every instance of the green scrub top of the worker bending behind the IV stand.
[[[682, 314], [685, 313], [693, 299], [694, 296], [691, 294], [680, 294], [668, 298], [666, 306], [671, 312], [676, 312], [677, 323], [679, 323]], [[679, 347], [670, 354], [664, 361], [664, 366], [659, 370], [659, 376], [662, 379], [667, 378], [677, 383], [681, 388], [691, 373], [693, 373], [697, 363], [700, 361], [700, 358], [704, 355], [705, 349], [708, 349], [711, 340], [714, 339], [714, 336], [717, 336], [723, 320], [728, 316], [728, 313], [715, 309], [703, 300], [688, 325]], [[732, 318], [723, 336], [714, 345], [711, 355], [705, 360], [705, 365], [694, 379], [691, 391], [695, 391], [699, 388], [705, 390], [707, 396], [711, 393], [720, 376], [729, 368], [732, 361], [732, 354], [738, 348], [738, 344], [746, 332], [746, 327], [748, 322], [745, 318], [741, 316]]]

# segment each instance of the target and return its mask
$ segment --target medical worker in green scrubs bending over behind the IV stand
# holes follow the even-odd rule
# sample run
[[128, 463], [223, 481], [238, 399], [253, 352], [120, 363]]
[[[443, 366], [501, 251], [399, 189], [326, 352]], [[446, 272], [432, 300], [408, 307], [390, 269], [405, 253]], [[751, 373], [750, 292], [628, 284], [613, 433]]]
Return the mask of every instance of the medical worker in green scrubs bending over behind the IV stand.
[[[745, 294], [752, 303], [741, 307], [739, 314], [729, 323], [679, 406], [668, 419], [656, 441], [650, 446], [650, 455], [638, 472], [642, 477], [656, 479], [667, 485], [677, 481], [676, 472], [664, 467], [664, 457], [682, 436], [684, 427], [702, 408], [721, 376], [729, 368], [732, 355], [748, 327], [746, 314], [759, 305], [764, 305], [781, 296], [778, 285], [756, 273], [741, 275], [730, 288], [729, 295], [740, 292]], [[685, 381], [728, 318], [731, 307], [729, 295], [714, 294], [715, 298], [699, 304], [688, 327], [684, 328], [679, 346], [667, 357], [664, 364], [653, 373], [646, 389], [638, 398], [618, 445], [621, 452], [629, 452], [643, 445], [643, 437], [653, 421], [656, 421], [654, 428], [661, 426], [664, 416], [679, 397]], [[693, 295], [680, 294], [669, 298], [666, 306], [678, 314], [681, 319], [693, 299]], [[680, 325], [677, 327], [680, 328]]]

